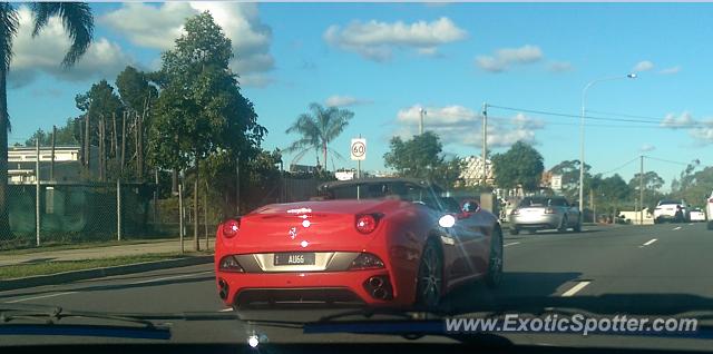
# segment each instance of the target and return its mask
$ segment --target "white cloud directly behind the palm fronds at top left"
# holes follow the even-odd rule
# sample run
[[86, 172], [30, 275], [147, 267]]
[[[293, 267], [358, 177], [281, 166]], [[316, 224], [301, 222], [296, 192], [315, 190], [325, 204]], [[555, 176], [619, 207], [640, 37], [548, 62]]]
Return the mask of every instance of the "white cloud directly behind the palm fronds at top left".
[[114, 78], [134, 60], [119, 45], [100, 37], [71, 68], [61, 61], [71, 46], [59, 18], [51, 18], [42, 32], [32, 38], [32, 13], [27, 7], [18, 9], [20, 28], [14, 39], [14, 56], [10, 67], [9, 83], [21, 87], [43, 72], [64, 80], [80, 81], [96, 78]]

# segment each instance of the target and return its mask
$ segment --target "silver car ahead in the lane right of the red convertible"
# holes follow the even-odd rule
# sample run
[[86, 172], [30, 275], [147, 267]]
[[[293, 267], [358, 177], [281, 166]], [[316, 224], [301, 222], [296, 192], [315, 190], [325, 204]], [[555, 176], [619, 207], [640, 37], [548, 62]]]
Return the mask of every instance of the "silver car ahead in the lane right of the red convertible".
[[538, 229], [557, 229], [560, 233], [572, 228], [582, 230], [579, 209], [569, 205], [564, 197], [525, 197], [509, 216], [510, 234], [522, 229], [535, 233]]

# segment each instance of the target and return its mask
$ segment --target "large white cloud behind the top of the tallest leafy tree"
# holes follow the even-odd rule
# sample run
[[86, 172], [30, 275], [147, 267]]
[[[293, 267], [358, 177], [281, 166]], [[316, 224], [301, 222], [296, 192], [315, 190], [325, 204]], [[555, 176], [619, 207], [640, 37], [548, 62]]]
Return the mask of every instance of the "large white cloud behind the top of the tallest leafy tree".
[[275, 66], [270, 53], [272, 29], [260, 20], [256, 3], [197, 1], [154, 6], [128, 2], [99, 18], [99, 22], [137, 46], [169, 50], [183, 33], [186, 18], [202, 11], [209, 11], [231, 39], [235, 53], [231, 69], [240, 75], [240, 82], [257, 87], [272, 82], [266, 76]]

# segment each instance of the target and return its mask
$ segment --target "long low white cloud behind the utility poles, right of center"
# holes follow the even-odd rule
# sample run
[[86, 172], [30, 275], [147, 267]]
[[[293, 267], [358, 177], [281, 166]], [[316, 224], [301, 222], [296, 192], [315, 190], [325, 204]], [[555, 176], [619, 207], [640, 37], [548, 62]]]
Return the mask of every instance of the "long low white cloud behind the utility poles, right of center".
[[[418, 134], [420, 109], [416, 105], [399, 110], [397, 136], [411, 138]], [[438, 134], [443, 144], [458, 144], [479, 147], [482, 145], [482, 118], [478, 112], [463, 106], [426, 107], [423, 117], [424, 130]], [[492, 148], [509, 147], [518, 140], [534, 144], [535, 131], [544, 128], [544, 122], [522, 114], [507, 120], [488, 120], [488, 146]]]

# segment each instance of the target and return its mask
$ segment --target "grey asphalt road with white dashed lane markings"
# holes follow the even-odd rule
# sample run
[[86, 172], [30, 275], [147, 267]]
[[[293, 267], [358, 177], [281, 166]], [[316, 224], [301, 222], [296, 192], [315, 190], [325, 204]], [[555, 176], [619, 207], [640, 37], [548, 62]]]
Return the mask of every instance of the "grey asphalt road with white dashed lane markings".
[[[489, 291], [482, 284], [468, 285], [455, 292], [449, 301], [455, 307], [467, 309], [472, 303], [516, 296], [684, 293], [713, 298], [712, 253], [713, 232], [706, 230], [704, 224], [593, 226], [579, 234], [540, 232], [506, 236], [502, 285], [497, 291]], [[0, 303], [131, 313], [228, 311], [217, 298], [212, 265], [3, 292]], [[320, 314], [325, 313], [273, 311], [261, 315], [299, 319]], [[244, 343], [253, 331], [263, 331], [272, 342], [315, 341], [296, 330], [254, 328], [233, 322], [178, 322], [174, 324], [174, 341]], [[322, 338], [354, 341], [355, 337]], [[393, 338], [368, 336], [365, 341], [387, 340]], [[450, 341], [437, 341], [441, 340]], [[535, 341], [533, 336], [529, 340]], [[656, 343], [656, 338], [648, 340], [647, 343]]]

